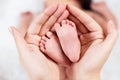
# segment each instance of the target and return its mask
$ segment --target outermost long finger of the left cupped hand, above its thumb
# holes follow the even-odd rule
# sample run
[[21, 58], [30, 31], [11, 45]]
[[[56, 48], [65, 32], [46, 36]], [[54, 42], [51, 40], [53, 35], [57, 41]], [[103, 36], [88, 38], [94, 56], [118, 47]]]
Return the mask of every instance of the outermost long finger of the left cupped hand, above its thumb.
[[46, 23], [50, 16], [52, 16], [58, 8], [58, 5], [48, 7], [43, 13], [38, 15], [32, 22], [28, 29], [28, 34], [39, 34], [41, 27]]

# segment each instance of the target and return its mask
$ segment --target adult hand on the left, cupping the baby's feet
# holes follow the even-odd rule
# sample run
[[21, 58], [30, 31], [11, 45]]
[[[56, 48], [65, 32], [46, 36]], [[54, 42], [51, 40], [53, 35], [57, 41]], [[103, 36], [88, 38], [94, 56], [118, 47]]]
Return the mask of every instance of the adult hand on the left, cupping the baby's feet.
[[[56, 21], [62, 20], [67, 12], [65, 9], [64, 5], [51, 6], [40, 14], [29, 28], [25, 26], [20, 30], [15, 27], [10, 28], [19, 51], [20, 61], [31, 80], [60, 79], [58, 65], [39, 50], [38, 44], [41, 39], [39, 36], [41, 35], [40, 31], [42, 30], [43, 33], [46, 33]], [[60, 17], [60, 15], [63, 16]], [[49, 26], [49, 28], [43, 26]], [[24, 34], [22, 33], [22, 29], [24, 29]]]

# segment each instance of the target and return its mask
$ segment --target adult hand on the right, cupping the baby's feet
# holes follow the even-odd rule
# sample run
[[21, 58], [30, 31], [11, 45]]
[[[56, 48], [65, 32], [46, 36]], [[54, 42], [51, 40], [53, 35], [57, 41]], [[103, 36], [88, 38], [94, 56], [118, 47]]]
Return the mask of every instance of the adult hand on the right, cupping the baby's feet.
[[101, 68], [118, 37], [115, 24], [109, 21], [107, 26], [100, 26], [82, 10], [71, 5], [68, 5], [68, 11], [84, 25], [78, 27], [81, 29], [81, 58], [67, 68], [69, 80], [99, 80]]

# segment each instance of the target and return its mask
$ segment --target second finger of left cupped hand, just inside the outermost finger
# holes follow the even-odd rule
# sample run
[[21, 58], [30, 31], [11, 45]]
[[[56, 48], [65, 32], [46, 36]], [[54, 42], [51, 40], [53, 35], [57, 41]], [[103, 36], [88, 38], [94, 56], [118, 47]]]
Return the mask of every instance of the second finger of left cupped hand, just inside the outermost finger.
[[51, 27], [55, 24], [55, 22], [59, 19], [62, 13], [65, 11], [66, 6], [60, 4], [57, 11], [46, 21], [42, 29], [40, 30], [40, 35], [44, 35], [47, 31], [51, 29]]

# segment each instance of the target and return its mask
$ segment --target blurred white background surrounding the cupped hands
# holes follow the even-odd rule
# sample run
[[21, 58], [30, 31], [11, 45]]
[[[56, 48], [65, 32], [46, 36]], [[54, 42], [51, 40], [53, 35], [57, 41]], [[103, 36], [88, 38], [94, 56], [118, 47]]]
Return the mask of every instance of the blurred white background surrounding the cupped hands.
[[[100, 0], [96, 0], [98, 1]], [[106, 3], [120, 23], [120, 0], [106, 0]], [[8, 28], [17, 26], [20, 13], [31, 11], [37, 15], [42, 9], [43, 0], [0, 0], [0, 80], [29, 80], [19, 63], [15, 43]], [[101, 77], [102, 80], [120, 80], [120, 38], [102, 70]]]

